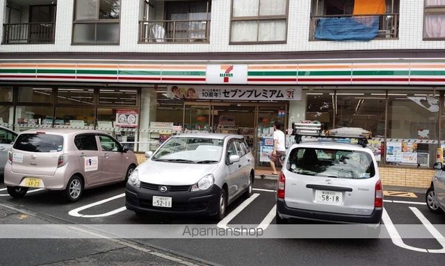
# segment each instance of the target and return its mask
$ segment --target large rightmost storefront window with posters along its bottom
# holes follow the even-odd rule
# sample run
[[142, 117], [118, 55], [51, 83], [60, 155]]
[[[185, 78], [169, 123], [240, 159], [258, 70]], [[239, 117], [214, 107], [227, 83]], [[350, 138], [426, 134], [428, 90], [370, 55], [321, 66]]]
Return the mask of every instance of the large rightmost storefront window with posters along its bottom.
[[410, 144], [408, 140], [437, 140], [439, 97], [432, 90], [390, 91], [387, 163], [429, 167], [437, 144]]

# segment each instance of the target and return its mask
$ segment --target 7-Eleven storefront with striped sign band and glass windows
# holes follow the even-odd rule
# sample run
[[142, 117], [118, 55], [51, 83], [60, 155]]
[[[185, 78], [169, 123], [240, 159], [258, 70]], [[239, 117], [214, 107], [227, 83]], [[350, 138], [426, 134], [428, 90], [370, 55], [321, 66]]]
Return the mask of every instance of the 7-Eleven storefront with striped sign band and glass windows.
[[8, 60], [0, 122], [15, 131], [97, 128], [141, 152], [181, 132], [239, 133], [257, 167], [268, 167], [273, 122], [317, 120], [371, 131], [382, 172], [420, 168], [428, 178], [445, 144], [444, 62]]

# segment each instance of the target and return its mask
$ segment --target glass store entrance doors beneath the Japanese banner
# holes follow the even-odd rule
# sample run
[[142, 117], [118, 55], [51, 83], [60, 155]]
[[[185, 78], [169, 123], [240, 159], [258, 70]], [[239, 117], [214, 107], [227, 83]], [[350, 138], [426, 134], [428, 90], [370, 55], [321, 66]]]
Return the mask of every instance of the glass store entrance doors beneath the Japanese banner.
[[282, 122], [286, 131], [287, 103], [186, 101], [184, 125], [192, 132], [243, 135], [257, 168], [270, 167], [273, 123]]

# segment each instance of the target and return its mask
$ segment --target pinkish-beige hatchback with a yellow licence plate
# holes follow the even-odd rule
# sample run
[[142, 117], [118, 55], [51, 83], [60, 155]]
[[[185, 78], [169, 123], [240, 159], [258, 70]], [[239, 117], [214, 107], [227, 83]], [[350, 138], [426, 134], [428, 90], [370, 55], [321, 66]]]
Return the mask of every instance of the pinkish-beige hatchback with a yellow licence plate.
[[84, 189], [125, 181], [137, 165], [134, 153], [106, 133], [34, 129], [18, 135], [4, 176], [12, 197], [46, 188], [64, 190], [69, 201], [76, 201]]

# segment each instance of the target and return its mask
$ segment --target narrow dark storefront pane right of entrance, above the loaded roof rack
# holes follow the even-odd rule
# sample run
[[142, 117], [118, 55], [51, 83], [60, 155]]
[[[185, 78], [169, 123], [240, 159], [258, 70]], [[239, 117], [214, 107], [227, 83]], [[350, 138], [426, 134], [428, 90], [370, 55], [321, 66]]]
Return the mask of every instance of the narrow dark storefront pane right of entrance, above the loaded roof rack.
[[306, 95], [306, 119], [321, 122], [324, 130], [334, 128], [334, 90], [309, 90]]

